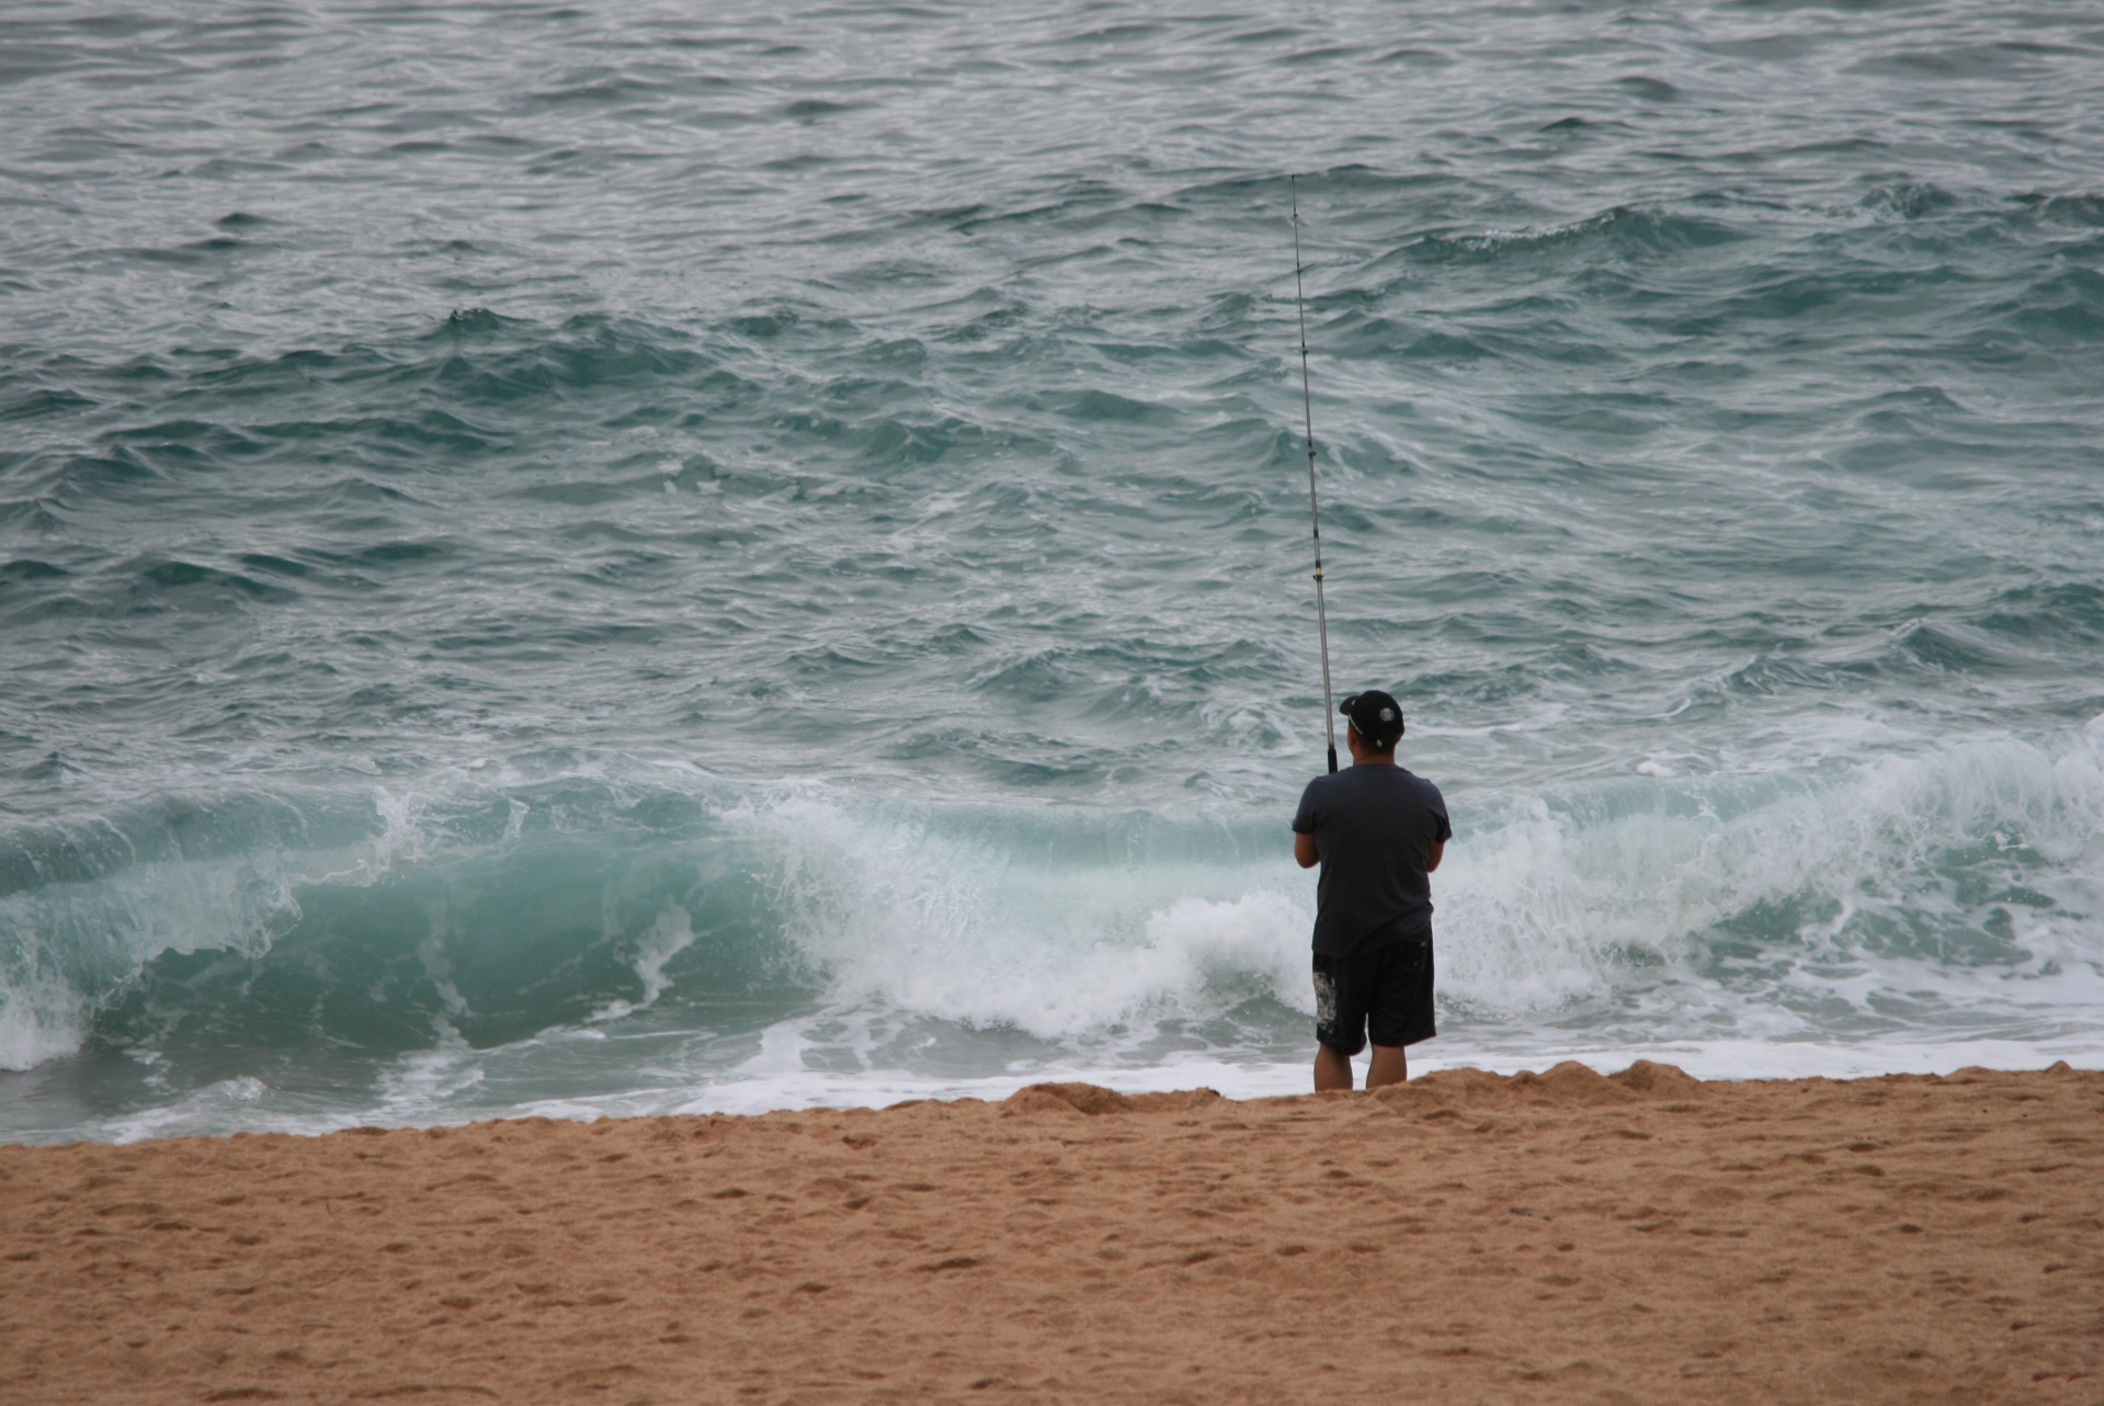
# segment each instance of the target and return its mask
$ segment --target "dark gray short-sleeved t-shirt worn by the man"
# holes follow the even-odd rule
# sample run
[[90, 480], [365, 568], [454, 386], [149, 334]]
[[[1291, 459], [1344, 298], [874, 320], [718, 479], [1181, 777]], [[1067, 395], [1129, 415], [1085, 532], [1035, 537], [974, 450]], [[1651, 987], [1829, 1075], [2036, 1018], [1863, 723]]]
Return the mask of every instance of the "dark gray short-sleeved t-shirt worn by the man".
[[1342, 958], [1433, 935], [1435, 844], [1454, 838], [1445, 798], [1401, 766], [1347, 766], [1300, 794], [1294, 833], [1315, 836], [1315, 951]]

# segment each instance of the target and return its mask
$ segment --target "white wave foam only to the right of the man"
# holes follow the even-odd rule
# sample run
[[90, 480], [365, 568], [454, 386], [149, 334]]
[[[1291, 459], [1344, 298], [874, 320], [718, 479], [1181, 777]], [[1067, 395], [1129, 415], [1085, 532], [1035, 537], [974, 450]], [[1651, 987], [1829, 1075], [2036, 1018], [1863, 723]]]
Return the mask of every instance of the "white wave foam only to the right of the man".
[[[1509, 804], [1448, 846], [1435, 880], [1441, 981], [1475, 1010], [1551, 1010], [1605, 993], [1626, 977], [1631, 953], [1681, 964], [1719, 924], [1765, 907], [1803, 913], [1793, 932], [1801, 949], [1774, 956], [1795, 962], [1805, 983], [1822, 960], [1877, 960], [1860, 937], [1877, 922], [1976, 928], [1995, 905], [1961, 892], [1953, 867], [1990, 888], [1986, 878], [2016, 873], [1990, 850], [2022, 846], [2047, 861], [2030, 865], [2022, 886], [2056, 907], [2007, 901], [2001, 911], [2081, 983], [2104, 964], [2096, 739], [2098, 728], [2064, 749], [1982, 739], [1833, 779], [1660, 781], [1652, 798], [1612, 796], [1591, 808]], [[1955, 970], [1988, 993], [1963, 962]], [[2068, 998], [2083, 1000], [2085, 987]]]

